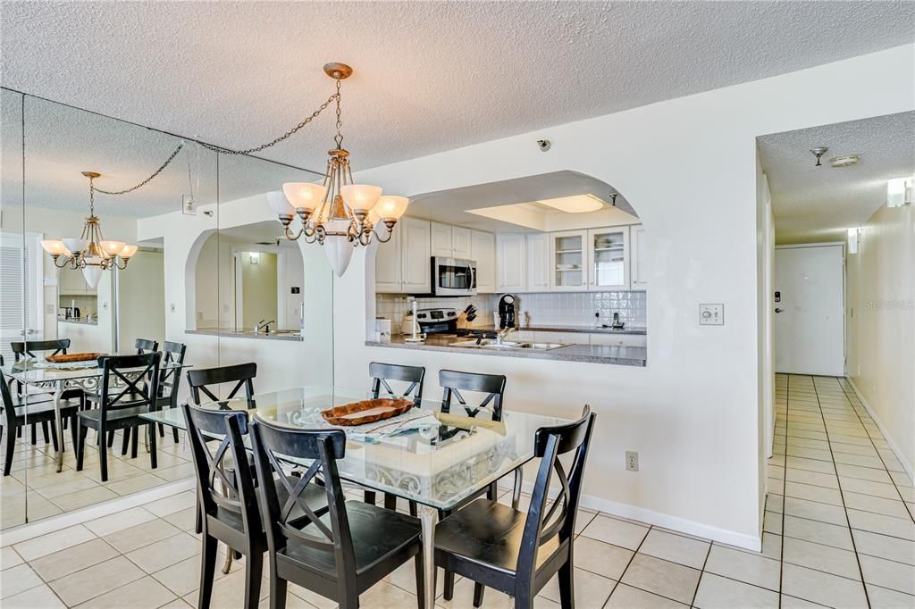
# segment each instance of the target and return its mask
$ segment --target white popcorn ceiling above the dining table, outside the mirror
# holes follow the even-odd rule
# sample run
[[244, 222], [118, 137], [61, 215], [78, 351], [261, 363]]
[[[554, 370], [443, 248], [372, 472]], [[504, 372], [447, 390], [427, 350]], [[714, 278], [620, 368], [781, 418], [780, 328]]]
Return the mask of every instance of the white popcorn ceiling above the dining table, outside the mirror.
[[[910, 2], [4, 2], [4, 86], [245, 147], [355, 67], [358, 167], [910, 42]], [[264, 155], [323, 168], [333, 121]], [[533, 145], [533, 143], [532, 143]]]

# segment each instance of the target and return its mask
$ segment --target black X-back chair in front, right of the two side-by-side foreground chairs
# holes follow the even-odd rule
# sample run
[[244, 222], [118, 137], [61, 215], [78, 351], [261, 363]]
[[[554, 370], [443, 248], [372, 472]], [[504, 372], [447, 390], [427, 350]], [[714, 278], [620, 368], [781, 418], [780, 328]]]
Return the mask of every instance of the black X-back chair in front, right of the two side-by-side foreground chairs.
[[[411, 558], [422, 609], [419, 520], [361, 501], [346, 501], [337, 470], [337, 460], [346, 453], [346, 434], [291, 429], [255, 415], [251, 436], [258, 479], [269, 479], [275, 473], [281, 483], [262, 484], [258, 493], [270, 562], [271, 609], [285, 608], [287, 582], [327, 597], [342, 609], [356, 609], [361, 593]], [[312, 461], [306, 472], [288, 475], [286, 458]], [[303, 491], [314, 486], [311, 481], [318, 475], [328, 507], [323, 515], [302, 500]], [[285, 497], [277, 492], [280, 487]], [[294, 507], [303, 516], [292, 518]]]

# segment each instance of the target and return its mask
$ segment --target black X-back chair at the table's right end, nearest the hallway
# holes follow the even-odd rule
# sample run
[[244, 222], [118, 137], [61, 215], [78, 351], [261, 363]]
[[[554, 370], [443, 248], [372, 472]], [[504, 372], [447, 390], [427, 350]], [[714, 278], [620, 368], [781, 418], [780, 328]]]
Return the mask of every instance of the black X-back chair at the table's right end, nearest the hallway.
[[[542, 427], [534, 435], [534, 456], [540, 466], [527, 514], [490, 499], [479, 498], [436, 526], [436, 566], [514, 597], [516, 609], [530, 609], [533, 599], [559, 575], [560, 604], [573, 599], [573, 540], [585, 475], [587, 449], [597, 415], [586, 406], [576, 422]], [[575, 452], [565, 473], [559, 455]], [[550, 497], [550, 483], [559, 492]], [[474, 606], [482, 595], [475, 592]]]

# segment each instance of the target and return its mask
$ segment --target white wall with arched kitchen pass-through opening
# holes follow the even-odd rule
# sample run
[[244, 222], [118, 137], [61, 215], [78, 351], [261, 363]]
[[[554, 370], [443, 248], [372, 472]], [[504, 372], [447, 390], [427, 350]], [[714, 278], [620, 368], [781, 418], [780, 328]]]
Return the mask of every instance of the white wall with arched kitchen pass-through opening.
[[[912, 110], [912, 59], [912, 46], [892, 48], [359, 172], [404, 195], [562, 169], [614, 185], [646, 227], [652, 339], [644, 369], [366, 347], [374, 264], [357, 251], [335, 282], [335, 378], [365, 387], [378, 359], [424, 365], [429, 397], [436, 370], [455, 368], [506, 374], [509, 409], [571, 417], [590, 402], [590, 505], [759, 547], [755, 138]], [[698, 326], [699, 303], [724, 303], [726, 325]], [[624, 471], [626, 450], [639, 451], [640, 473]]]

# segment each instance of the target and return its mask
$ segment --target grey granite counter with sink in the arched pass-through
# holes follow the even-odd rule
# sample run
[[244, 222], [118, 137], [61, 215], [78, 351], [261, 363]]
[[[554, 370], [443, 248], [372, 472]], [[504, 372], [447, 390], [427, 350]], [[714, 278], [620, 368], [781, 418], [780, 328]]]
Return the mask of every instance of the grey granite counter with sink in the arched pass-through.
[[[527, 328], [525, 328], [527, 329]], [[368, 347], [393, 347], [401, 349], [420, 349], [428, 351], [447, 351], [449, 353], [466, 353], [468, 355], [496, 356], [501, 358], [554, 359], [559, 361], [580, 361], [593, 364], [616, 364], [618, 366], [644, 367], [648, 359], [645, 347], [614, 347], [609, 345], [565, 345], [548, 351], [533, 349], [485, 349], [468, 347], [448, 347], [449, 343], [467, 340], [466, 337], [434, 334], [425, 339], [425, 343], [404, 343], [403, 336], [391, 338], [390, 343], [367, 340]]]

